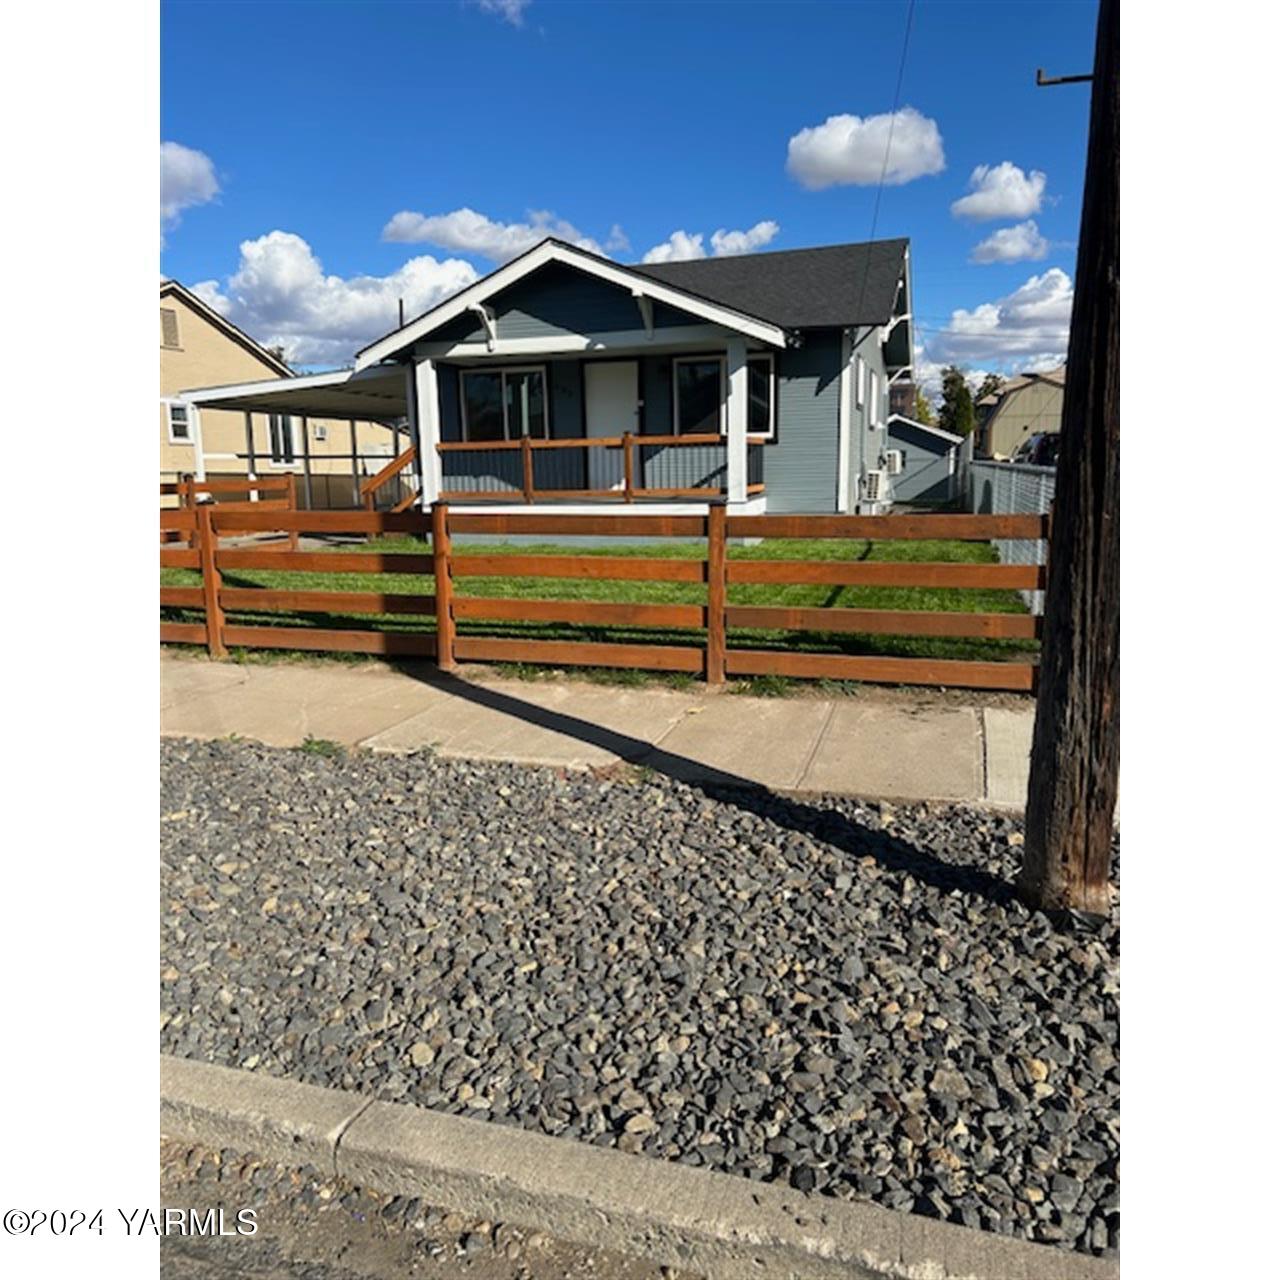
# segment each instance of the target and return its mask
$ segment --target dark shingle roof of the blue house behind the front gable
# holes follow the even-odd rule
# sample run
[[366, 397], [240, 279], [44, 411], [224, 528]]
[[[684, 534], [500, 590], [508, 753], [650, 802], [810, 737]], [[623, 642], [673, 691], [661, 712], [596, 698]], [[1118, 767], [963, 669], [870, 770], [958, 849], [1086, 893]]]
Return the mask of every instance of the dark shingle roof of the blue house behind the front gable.
[[785, 329], [883, 324], [893, 314], [905, 239], [631, 268]]

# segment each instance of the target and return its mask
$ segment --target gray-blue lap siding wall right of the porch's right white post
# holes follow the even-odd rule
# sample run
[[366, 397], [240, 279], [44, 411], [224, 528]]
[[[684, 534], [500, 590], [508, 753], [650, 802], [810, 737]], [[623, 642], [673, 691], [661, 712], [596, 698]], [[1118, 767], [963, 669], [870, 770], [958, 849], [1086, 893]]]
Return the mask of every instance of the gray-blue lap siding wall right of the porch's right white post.
[[769, 511], [836, 509], [840, 334], [810, 330], [777, 353], [777, 442], [763, 447]]

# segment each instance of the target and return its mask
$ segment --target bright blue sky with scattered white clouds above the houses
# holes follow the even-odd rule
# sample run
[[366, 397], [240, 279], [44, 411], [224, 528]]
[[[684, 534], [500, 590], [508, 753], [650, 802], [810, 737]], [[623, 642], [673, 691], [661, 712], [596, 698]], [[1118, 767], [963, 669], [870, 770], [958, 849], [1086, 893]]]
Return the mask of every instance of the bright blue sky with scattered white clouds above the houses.
[[[321, 367], [544, 230], [620, 261], [865, 239], [906, 14], [170, 0], [161, 269]], [[877, 236], [911, 239], [927, 375], [1065, 352], [1089, 91], [1034, 74], [1088, 70], [1094, 22], [915, 6]]]

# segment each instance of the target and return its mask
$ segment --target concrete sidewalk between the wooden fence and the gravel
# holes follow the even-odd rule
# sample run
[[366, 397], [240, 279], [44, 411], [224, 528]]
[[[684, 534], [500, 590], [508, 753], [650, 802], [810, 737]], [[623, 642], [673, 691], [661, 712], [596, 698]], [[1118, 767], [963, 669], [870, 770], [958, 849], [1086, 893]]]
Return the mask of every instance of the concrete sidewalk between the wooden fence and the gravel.
[[160, 731], [562, 768], [648, 764], [690, 781], [1020, 808], [1034, 708], [749, 698], [338, 663], [161, 654]]

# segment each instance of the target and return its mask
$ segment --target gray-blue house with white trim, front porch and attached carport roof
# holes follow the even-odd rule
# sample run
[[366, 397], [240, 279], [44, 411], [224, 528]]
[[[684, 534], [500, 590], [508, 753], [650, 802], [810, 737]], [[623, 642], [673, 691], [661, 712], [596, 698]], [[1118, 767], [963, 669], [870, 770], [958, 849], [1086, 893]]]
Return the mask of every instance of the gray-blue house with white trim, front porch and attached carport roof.
[[187, 399], [399, 411], [424, 503], [879, 512], [888, 385], [911, 351], [905, 239], [655, 265], [545, 239], [353, 370]]

